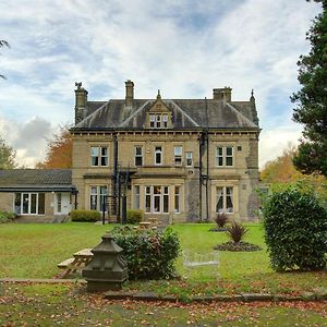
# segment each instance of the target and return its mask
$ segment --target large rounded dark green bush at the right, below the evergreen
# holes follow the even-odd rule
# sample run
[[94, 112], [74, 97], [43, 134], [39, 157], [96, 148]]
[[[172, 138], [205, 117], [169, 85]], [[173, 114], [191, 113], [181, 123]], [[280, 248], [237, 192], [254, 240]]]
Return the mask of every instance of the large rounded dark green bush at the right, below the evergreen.
[[316, 270], [326, 266], [327, 211], [314, 190], [296, 183], [272, 191], [263, 199], [263, 216], [275, 270]]

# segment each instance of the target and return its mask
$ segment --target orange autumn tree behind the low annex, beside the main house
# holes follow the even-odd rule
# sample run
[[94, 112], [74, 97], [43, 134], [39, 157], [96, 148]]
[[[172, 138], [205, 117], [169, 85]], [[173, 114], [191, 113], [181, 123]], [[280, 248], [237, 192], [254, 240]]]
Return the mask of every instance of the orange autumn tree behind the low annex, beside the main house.
[[38, 169], [66, 169], [72, 167], [72, 136], [66, 126], [53, 134], [47, 145], [45, 161], [36, 164]]

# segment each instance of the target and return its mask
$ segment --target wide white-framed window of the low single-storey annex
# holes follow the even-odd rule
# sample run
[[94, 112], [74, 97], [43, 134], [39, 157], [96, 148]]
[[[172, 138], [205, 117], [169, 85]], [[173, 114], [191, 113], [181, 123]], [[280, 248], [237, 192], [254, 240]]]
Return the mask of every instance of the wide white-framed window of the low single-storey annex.
[[44, 215], [45, 193], [15, 193], [14, 211], [17, 215]]

